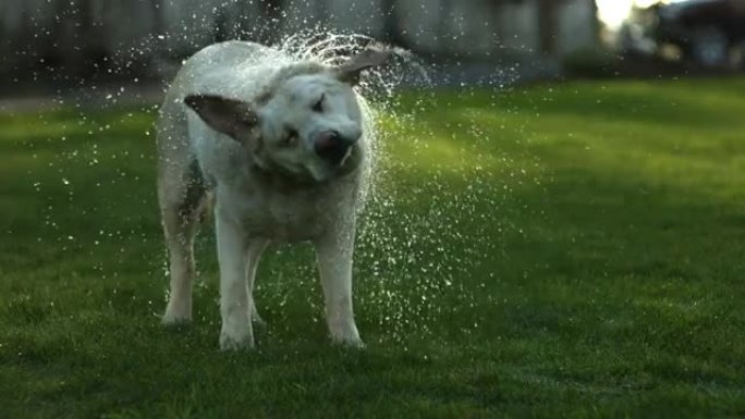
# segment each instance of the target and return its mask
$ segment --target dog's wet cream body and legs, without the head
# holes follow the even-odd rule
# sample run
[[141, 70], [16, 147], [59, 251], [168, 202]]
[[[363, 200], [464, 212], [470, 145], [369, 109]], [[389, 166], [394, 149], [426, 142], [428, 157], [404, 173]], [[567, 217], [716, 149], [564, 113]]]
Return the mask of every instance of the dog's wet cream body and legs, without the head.
[[[279, 62], [277, 67], [262, 72], [261, 63], [271, 60]], [[230, 65], [239, 75], [243, 74], [241, 65], [248, 70], [254, 65], [258, 67], [253, 73], [256, 78], [232, 81], [237, 82], [237, 88], [223, 84], [219, 72], [230, 75]], [[192, 318], [194, 235], [198, 221], [211, 207], [211, 196], [220, 263], [220, 346], [230, 349], [254, 345], [252, 321], [261, 322], [253, 300], [260, 255], [271, 242], [296, 241], [310, 241], [316, 247], [332, 340], [362, 346], [352, 311], [351, 275], [356, 208], [368, 163], [365, 133], [328, 178], [323, 172], [313, 171], [315, 177], [302, 176], [290, 173], [281, 163], [262, 161], [260, 153], [271, 145], [265, 144], [267, 138], [255, 130], [237, 134], [229, 130], [234, 138], [228, 138], [219, 125], [205, 119], [206, 111], [188, 109], [184, 98], [188, 101], [190, 95], [204, 93], [232, 95], [252, 107], [269, 107], [291, 81], [305, 83], [298, 76], [317, 75], [319, 83], [334, 75], [353, 81], [361, 70], [371, 65], [377, 64], [367, 58], [352, 59], [340, 69], [293, 62], [279, 51], [237, 41], [208, 47], [185, 63], [167, 94], [157, 123], [158, 198], [171, 275], [164, 323]], [[333, 86], [339, 82], [329, 78], [328, 83]], [[268, 115], [271, 118], [271, 113]], [[355, 113], [350, 115], [354, 118]], [[363, 130], [364, 121], [358, 125]]]

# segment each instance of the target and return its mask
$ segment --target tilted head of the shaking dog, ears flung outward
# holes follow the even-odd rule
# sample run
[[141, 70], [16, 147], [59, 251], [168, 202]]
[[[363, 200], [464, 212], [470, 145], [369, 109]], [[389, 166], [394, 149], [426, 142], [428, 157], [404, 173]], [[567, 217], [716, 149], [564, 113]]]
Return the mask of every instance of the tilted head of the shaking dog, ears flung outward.
[[339, 66], [285, 74], [256, 102], [191, 95], [184, 102], [213, 130], [248, 148], [259, 167], [321, 182], [362, 161], [362, 111], [352, 89], [359, 73], [390, 53], [368, 49]]

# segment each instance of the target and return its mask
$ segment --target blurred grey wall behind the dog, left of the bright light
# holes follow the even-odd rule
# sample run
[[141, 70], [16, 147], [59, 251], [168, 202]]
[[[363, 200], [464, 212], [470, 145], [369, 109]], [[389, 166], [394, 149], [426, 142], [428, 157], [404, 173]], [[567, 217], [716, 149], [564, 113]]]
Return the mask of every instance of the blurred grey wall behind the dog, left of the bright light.
[[156, 75], [216, 40], [319, 26], [437, 62], [550, 62], [598, 41], [595, 0], [2, 0], [0, 74]]

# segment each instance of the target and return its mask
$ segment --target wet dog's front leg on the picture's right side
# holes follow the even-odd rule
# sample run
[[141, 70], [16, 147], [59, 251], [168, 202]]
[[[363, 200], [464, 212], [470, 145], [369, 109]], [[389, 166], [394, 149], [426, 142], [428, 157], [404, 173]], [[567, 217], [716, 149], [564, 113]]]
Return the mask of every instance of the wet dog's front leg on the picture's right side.
[[352, 310], [352, 255], [354, 222], [337, 225], [315, 242], [318, 255], [326, 321], [335, 343], [363, 347]]

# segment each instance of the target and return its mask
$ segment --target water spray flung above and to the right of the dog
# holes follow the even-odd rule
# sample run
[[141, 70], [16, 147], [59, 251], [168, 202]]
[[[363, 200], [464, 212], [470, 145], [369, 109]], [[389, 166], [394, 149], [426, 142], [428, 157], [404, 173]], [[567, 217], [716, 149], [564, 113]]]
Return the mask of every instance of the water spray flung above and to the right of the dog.
[[[307, 32], [283, 39], [279, 49], [296, 60], [337, 65], [370, 46], [380, 44], [358, 34]], [[430, 195], [431, 187], [404, 192], [395, 186], [395, 176], [406, 172], [406, 163], [391, 155], [387, 146], [396, 137], [411, 137], [411, 125], [416, 125], [420, 131], [411, 141], [423, 149], [428, 147], [437, 133], [423, 127], [419, 119], [427, 112], [424, 103], [436, 102], [436, 94], [428, 67], [417, 57], [400, 48], [391, 50], [395, 57], [391, 65], [366, 72], [358, 86], [361, 102], [369, 115], [367, 132], [373, 147], [374, 175], [355, 252], [361, 273], [355, 281], [363, 282], [358, 287], [363, 292], [356, 293], [355, 298], [363, 309], [371, 308], [368, 316], [388, 331], [389, 337], [405, 342], [412, 332], [435, 333], [431, 326], [438, 319], [475, 304], [478, 288], [471, 288], [462, 280], [472, 274], [469, 270], [476, 268], [477, 261], [484, 261], [485, 255], [503, 252], [503, 248], [493, 242], [494, 237], [484, 234], [463, 237], [457, 231], [459, 223], [463, 215], [502, 222], [485, 217], [479, 207], [486, 204], [498, 210], [509, 199], [510, 192], [503, 189], [504, 185], [494, 184], [491, 174], [478, 168], [475, 172], [461, 173], [468, 184], [464, 190], [438, 185], [448, 177], [442, 172], [449, 168], [436, 168], [425, 174], [430, 185], [437, 185], [435, 196]], [[407, 89], [411, 96], [412, 87], [424, 88], [416, 90], [416, 99], [404, 106], [400, 93]], [[387, 122], [384, 130], [380, 120]], [[467, 138], [489, 141], [488, 133], [475, 120], [463, 123], [461, 128]], [[474, 149], [474, 152], [479, 151]], [[424, 212], [406, 213], [403, 208], [407, 206], [402, 204], [415, 201], [429, 201], [430, 207]], [[308, 278], [315, 275], [312, 269], [304, 273]], [[448, 307], [453, 301], [456, 307]], [[468, 324], [471, 329], [477, 326], [477, 323]]]

